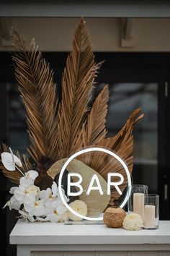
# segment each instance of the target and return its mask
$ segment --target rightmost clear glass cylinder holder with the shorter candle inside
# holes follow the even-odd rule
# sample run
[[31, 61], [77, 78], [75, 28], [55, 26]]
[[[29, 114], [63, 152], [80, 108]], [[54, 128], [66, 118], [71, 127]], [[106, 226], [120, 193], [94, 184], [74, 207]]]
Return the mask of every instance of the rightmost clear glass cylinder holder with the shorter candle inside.
[[146, 195], [144, 207], [143, 229], [158, 229], [159, 221], [159, 197], [158, 195]]

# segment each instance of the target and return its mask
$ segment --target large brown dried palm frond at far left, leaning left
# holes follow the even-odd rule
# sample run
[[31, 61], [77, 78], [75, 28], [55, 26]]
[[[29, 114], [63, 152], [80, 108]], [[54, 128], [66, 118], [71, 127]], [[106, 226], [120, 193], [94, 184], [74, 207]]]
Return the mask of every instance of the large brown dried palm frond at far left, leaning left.
[[35, 161], [42, 155], [58, 159], [55, 116], [57, 100], [53, 72], [45, 59], [42, 59], [40, 51], [37, 51], [34, 39], [28, 51], [24, 36], [20, 36], [16, 30], [12, 31], [12, 40], [17, 48], [13, 56], [15, 75], [27, 110], [28, 132], [32, 142], [30, 155]]

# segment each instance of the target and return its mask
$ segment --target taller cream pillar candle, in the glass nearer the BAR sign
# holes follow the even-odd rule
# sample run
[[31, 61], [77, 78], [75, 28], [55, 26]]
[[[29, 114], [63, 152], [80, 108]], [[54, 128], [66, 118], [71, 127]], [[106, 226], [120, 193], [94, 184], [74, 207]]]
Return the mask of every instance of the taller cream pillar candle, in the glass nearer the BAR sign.
[[144, 194], [134, 193], [133, 194], [133, 213], [138, 213], [144, 218]]

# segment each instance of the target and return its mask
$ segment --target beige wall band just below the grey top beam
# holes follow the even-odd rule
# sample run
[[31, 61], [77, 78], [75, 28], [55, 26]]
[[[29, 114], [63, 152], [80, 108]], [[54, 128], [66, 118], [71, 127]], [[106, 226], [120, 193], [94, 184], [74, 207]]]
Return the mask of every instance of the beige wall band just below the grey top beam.
[[[42, 51], [69, 51], [78, 18], [1, 18], [6, 27], [13, 25], [30, 40], [35, 38]], [[133, 18], [133, 48], [120, 45], [121, 22], [118, 18], [86, 18], [94, 51], [170, 51], [170, 19]], [[12, 51], [9, 42], [0, 51]]]

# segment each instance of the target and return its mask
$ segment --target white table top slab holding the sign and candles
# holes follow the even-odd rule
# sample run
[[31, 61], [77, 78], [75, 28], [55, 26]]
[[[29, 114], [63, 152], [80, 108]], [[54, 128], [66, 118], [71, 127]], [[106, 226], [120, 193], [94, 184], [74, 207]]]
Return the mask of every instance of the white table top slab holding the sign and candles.
[[10, 244], [170, 244], [170, 221], [160, 221], [157, 230], [127, 231], [99, 225], [26, 223], [19, 220], [10, 234]]

